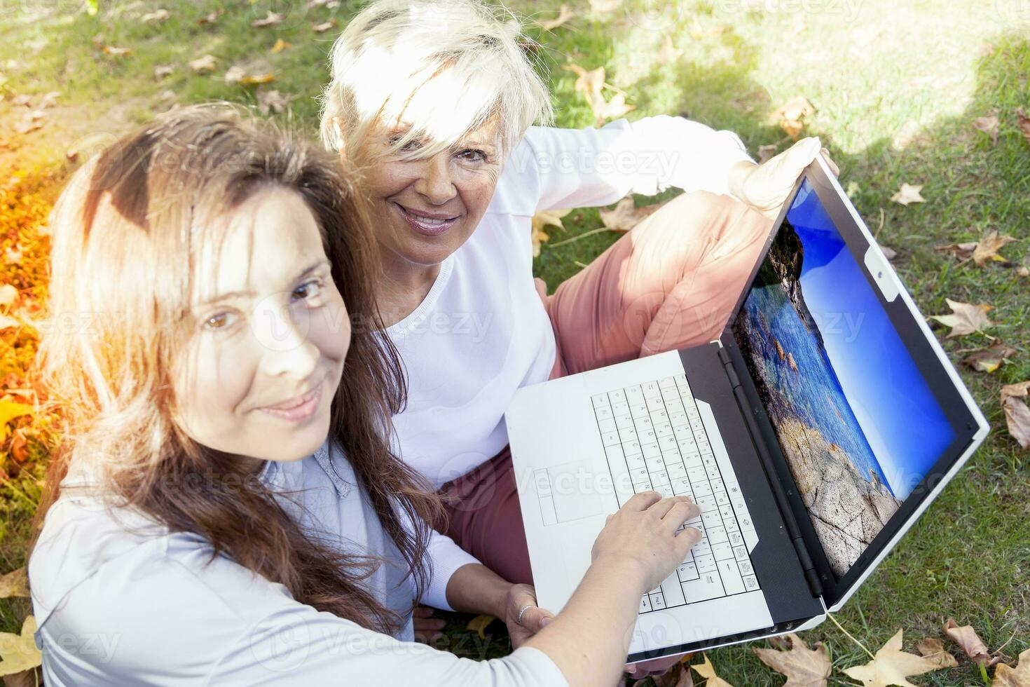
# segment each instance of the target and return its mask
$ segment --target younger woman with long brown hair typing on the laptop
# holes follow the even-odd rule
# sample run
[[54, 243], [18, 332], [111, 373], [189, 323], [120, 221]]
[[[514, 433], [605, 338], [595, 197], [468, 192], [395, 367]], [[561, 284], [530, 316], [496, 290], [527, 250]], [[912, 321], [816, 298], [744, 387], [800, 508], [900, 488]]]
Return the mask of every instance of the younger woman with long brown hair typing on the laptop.
[[[617, 679], [695, 507], [638, 494], [554, 618], [431, 530], [437, 497], [390, 450], [404, 377], [352, 176], [206, 106], [59, 199], [41, 362], [67, 427], [29, 564], [47, 685]], [[411, 642], [419, 599], [505, 617], [516, 650]]]

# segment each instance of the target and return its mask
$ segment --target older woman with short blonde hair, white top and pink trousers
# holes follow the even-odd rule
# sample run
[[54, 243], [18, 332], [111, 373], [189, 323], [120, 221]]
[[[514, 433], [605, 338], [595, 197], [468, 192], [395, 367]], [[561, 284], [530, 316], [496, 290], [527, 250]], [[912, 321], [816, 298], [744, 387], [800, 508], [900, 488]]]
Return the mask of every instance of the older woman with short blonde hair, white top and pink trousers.
[[[324, 145], [369, 170], [377, 300], [409, 383], [399, 451], [445, 496], [450, 537], [525, 583], [512, 396], [716, 338], [821, 150], [808, 138], [756, 165], [735, 134], [678, 116], [548, 127], [533, 47], [500, 6], [376, 0], [333, 47], [321, 113]], [[536, 213], [670, 186], [687, 193], [553, 295], [534, 279]]]

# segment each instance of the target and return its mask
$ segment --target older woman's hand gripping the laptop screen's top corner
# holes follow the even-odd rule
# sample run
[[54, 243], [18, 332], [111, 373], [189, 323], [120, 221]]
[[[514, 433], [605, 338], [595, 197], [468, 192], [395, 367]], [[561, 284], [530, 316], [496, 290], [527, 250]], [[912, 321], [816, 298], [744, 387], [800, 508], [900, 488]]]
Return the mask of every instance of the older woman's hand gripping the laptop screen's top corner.
[[818, 154], [823, 157], [834, 176], [840, 173], [819, 138], [802, 138], [760, 165], [748, 161], [736, 163], [729, 171], [729, 193], [769, 219], [776, 219], [794, 190], [797, 177]]

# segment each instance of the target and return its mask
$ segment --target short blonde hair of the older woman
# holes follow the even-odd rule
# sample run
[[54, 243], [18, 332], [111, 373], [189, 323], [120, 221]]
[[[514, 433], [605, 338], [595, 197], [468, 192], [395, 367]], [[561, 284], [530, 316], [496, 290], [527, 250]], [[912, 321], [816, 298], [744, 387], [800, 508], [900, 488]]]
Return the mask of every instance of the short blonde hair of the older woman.
[[547, 83], [529, 57], [537, 47], [503, 6], [376, 0], [333, 45], [322, 143], [356, 149], [370, 127], [408, 112], [414, 121], [391, 141], [394, 151], [419, 141], [418, 157], [436, 154], [495, 118], [508, 152], [535, 122], [553, 119]]

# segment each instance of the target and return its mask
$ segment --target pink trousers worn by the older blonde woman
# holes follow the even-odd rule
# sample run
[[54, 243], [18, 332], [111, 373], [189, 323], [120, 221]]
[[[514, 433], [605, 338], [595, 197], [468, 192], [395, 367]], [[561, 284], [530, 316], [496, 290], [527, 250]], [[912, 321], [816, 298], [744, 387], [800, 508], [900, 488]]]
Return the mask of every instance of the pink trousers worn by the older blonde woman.
[[[728, 196], [666, 203], [548, 297], [553, 377], [717, 339], [771, 220]], [[509, 582], [533, 583], [511, 453], [444, 484], [447, 535]]]

